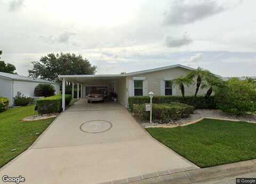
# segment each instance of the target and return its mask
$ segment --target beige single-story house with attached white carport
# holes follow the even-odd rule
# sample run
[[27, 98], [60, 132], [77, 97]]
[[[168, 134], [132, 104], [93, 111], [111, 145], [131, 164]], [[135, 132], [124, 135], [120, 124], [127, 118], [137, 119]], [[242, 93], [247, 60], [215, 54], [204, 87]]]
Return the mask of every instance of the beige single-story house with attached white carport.
[[[189, 70], [195, 69], [172, 65], [118, 75], [60, 75], [59, 77], [63, 79], [62, 94], [65, 94], [65, 81], [70, 81], [82, 86], [81, 98], [86, 98], [92, 89], [103, 89], [108, 94], [117, 93], [118, 102], [128, 107], [129, 97], [148, 95], [150, 91], [155, 95], [181, 95], [179, 86], [173, 85], [171, 80], [185, 75]], [[196, 85], [185, 86], [185, 95], [194, 95], [195, 89]], [[206, 89], [200, 89], [198, 95], [205, 93]], [[62, 103], [65, 104], [63, 99]]]

